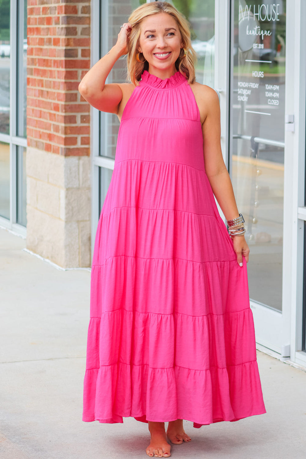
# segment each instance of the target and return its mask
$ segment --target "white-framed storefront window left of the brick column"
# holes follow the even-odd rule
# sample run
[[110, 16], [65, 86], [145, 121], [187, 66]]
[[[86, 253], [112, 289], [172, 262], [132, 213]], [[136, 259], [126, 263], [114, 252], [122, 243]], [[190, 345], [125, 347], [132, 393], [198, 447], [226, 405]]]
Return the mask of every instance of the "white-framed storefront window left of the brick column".
[[27, 47], [27, 1], [0, 0], [0, 216], [22, 226], [27, 224]]

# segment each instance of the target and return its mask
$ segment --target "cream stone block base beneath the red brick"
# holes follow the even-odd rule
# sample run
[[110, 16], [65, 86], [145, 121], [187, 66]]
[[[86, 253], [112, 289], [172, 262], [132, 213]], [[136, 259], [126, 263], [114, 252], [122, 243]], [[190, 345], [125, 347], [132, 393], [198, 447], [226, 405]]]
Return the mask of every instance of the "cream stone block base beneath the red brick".
[[91, 265], [90, 158], [27, 148], [27, 249], [62, 268]]

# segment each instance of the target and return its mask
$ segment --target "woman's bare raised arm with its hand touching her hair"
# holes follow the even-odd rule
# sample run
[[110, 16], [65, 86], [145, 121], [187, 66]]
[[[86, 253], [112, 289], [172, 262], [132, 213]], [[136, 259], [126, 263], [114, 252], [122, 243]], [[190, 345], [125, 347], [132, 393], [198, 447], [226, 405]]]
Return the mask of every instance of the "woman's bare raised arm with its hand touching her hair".
[[93, 107], [102, 112], [117, 113], [122, 100], [122, 90], [117, 83], [105, 84], [105, 80], [117, 59], [127, 54], [127, 39], [131, 26], [127, 22], [121, 28], [116, 45], [84, 75], [78, 85], [79, 93]]

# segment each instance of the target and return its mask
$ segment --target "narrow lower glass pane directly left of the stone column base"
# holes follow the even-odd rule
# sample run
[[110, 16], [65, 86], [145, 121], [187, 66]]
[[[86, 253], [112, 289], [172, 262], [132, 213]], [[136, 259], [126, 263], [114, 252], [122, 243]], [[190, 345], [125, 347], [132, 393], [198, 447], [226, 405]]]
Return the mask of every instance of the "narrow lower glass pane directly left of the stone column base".
[[27, 226], [27, 149], [17, 146], [17, 223]]

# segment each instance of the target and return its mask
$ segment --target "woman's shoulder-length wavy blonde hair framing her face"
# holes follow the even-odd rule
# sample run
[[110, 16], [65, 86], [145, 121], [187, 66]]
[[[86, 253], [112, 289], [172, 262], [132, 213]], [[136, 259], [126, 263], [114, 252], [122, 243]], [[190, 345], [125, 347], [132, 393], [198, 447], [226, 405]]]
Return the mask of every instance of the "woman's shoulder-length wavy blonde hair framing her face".
[[175, 67], [177, 71], [183, 73], [188, 78], [188, 83], [195, 82], [195, 65], [197, 62], [196, 52], [191, 45], [190, 39], [190, 23], [174, 6], [168, 2], [152, 2], [144, 3], [143, 5], [135, 8], [130, 14], [128, 22], [130, 22], [132, 28], [128, 38], [127, 48], [127, 80], [129, 83], [133, 83], [136, 86], [139, 85], [141, 74], [144, 70], [149, 69], [149, 63], [138, 62], [136, 54], [139, 49], [139, 38], [140, 38], [140, 24], [145, 17], [151, 16], [157, 13], [167, 13], [173, 17], [178, 25], [178, 29], [181, 33], [184, 48], [187, 50], [187, 55], [181, 57], [182, 52], [175, 61]]

